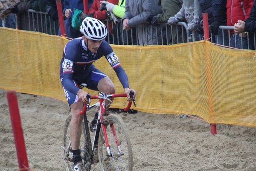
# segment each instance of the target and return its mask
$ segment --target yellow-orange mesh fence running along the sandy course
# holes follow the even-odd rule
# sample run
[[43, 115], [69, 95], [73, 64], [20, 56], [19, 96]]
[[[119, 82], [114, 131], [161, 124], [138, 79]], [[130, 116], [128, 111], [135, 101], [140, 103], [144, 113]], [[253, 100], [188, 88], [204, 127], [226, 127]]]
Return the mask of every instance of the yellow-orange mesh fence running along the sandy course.
[[[7, 28], [0, 28], [0, 35], [0, 88], [66, 101], [59, 63], [69, 40]], [[111, 46], [130, 87], [137, 91], [137, 110], [189, 114], [209, 123], [256, 127], [255, 51], [228, 49], [208, 41]], [[111, 78], [116, 93], [123, 93], [104, 57], [93, 64]], [[125, 104], [125, 98], [116, 98], [112, 107]]]

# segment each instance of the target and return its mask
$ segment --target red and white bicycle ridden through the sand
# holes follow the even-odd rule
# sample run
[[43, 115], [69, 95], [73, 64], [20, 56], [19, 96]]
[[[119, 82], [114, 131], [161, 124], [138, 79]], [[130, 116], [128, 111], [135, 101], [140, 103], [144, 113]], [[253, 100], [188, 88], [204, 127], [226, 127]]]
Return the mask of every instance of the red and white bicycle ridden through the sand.
[[[130, 92], [136, 107], [134, 92]], [[112, 101], [109, 98], [127, 97], [126, 94], [104, 94], [87, 95], [88, 104], [84, 104], [84, 109], [80, 114], [84, 115], [82, 122], [82, 136], [80, 140], [80, 153], [85, 168], [90, 171], [91, 165], [99, 162], [102, 171], [132, 171], [133, 157], [131, 141], [128, 130], [122, 119], [106, 111], [106, 104], [110, 105]], [[95, 104], [90, 106], [90, 99], [99, 99]], [[123, 111], [128, 111], [131, 107], [131, 101]], [[99, 108], [98, 122], [93, 137], [93, 143], [90, 138], [90, 130], [86, 111], [92, 108]], [[73, 153], [70, 143], [70, 121], [71, 114], [67, 117], [64, 124], [63, 154], [66, 171], [73, 171]]]

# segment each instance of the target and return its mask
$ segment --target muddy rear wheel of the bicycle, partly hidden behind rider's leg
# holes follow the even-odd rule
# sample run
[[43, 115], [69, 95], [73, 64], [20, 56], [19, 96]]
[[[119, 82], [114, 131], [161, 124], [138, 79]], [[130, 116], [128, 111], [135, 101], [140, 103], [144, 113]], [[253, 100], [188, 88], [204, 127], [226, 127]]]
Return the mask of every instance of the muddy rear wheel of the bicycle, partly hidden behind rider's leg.
[[[65, 164], [66, 171], [73, 171], [73, 167], [72, 167], [73, 153], [72, 153], [71, 142], [70, 142], [71, 119], [72, 119], [72, 115], [69, 114], [64, 124], [64, 134], [63, 134], [63, 148], [64, 148], [63, 157], [65, 157], [64, 164]], [[82, 127], [82, 134], [80, 139], [80, 154], [81, 154], [81, 157], [83, 158], [83, 162], [87, 171], [90, 171], [91, 165], [86, 166], [86, 162], [90, 162], [90, 157], [89, 156], [85, 157], [86, 155], [89, 155], [89, 153], [88, 153], [88, 150], [85, 148], [87, 144], [87, 139], [86, 139], [86, 134], [84, 130], [84, 122], [82, 122], [81, 127]]]

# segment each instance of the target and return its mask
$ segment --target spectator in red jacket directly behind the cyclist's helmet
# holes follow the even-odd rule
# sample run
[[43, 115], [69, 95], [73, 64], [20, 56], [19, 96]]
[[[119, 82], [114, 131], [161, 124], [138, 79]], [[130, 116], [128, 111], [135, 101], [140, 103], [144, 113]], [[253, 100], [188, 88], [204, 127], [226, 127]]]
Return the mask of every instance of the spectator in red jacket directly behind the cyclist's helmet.
[[[96, 18], [98, 20], [104, 21], [106, 19], [109, 19], [111, 16], [110, 13], [107, 13], [106, 9], [103, 9], [100, 11], [100, 6], [102, 0], [94, 0], [92, 6], [89, 8], [89, 16]], [[108, 0], [108, 2], [113, 3], [114, 5], [118, 5], [119, 0]], [[104, 21], [104, 24], [106, 25], [108, 29], [108, 35], [105, 38], [105, 41], [107, 41], [109, 44], [116, 44], [117, 43], [117, 38], [114, 37], [113, 40], [113, 33], [112, 33], [112, 23], [111, 21]], [[113, 26], [115, 23], [113, 23]]]

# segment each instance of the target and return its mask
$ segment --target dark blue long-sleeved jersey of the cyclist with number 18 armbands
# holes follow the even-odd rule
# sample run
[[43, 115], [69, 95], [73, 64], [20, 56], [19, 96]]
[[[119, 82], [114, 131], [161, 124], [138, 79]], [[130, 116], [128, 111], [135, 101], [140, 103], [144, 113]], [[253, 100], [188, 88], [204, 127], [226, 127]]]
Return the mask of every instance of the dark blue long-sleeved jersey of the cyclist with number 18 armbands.
[[60, 78], [63, 87], [76, 94], [79, 88], [73, 84], [73, 81], [79, 81], [80, 77], [91, 72], [92, 67], [94, 67], [92, 63], [102, 56], [105, 56], [113, 70], [115, 70], [122, 86], [124, 88], [129, 87], [127, 75], [108, 42], [102, 40], [97, 52], [93, 53], [86, 47], [82, 37], [72, 39], [64, 48], [60, 63]]

